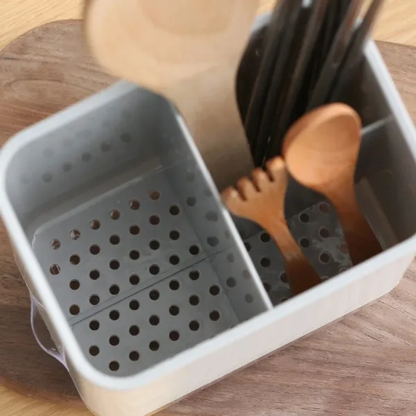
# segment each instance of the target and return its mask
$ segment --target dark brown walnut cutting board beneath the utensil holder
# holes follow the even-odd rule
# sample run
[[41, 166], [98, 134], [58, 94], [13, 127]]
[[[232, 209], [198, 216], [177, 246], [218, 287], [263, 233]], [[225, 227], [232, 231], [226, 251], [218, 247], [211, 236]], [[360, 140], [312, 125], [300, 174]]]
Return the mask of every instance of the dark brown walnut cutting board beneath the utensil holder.
[[[383, 42], [379, 48], [416, 120], [416, 49]], [[79, 21], [36, 28], [0, 53], [0, 144], [112, 82], [87, 53]], [[28, 291], [1, 225], [0, 381], [31, 397], [83, 406], [66, 370], [35, 342], [29, 312]], [[163, 413], [410, 416], [415, 391], [413, 263], [383, 299]]]

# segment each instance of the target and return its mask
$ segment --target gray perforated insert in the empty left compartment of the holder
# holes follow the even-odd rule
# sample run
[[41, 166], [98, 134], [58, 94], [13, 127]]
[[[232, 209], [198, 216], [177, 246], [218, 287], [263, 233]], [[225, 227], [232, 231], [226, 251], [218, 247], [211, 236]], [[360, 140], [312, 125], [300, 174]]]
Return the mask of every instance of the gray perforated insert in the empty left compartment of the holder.
[[33, 250], [95, 367], [135, 374], [266, 311], [221, 209], [185, 161], [37, 229]]

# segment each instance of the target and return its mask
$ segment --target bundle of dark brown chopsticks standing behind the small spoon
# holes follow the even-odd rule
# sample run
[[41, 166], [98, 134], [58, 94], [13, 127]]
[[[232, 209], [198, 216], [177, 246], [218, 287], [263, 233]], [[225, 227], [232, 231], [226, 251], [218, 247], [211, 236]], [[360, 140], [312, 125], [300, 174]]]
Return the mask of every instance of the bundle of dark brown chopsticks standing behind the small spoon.
[[303, 114], [340, 101], [382, 3], [373, 0], [363, 13], [363, 0], [278, 1], [244, 117], [256, 166], [281, 154], [286, 131]]

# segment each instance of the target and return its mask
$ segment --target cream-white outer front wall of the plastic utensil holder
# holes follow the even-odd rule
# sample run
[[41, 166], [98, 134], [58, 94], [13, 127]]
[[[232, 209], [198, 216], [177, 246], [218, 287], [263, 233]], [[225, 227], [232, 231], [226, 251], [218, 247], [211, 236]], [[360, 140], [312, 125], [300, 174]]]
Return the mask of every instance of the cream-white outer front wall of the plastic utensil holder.
[[[305, 302], [306, 306], [293, 313], [285, 313], [284, 304], [274, 311], [263, 313], [243, 324], [246, 327], [244, 338], [236, 339], [234, 343], [142, 388], [106, 390], [78, 374], [72, 374], [73, 379], [87, 407], [100, 416], [150, 415], [385, 295], [399, 283], [412, 259], [413, 255], [408, 254], [371, 275], [352, 278], [347, 286], [341, 284], [347, 276], [336, 277], [340, 284], [332, 293], [322, 298], [316, 292], [315, 302]], [[71, 365], [69, 370], [72, 371]]]

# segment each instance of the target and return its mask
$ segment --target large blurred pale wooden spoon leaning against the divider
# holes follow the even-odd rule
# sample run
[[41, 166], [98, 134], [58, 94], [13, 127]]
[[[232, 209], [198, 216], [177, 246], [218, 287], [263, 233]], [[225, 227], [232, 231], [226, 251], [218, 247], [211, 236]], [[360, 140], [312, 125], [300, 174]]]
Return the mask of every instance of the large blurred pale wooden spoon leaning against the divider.
[[259, 0], [89, 0], [85, 35], [116, 76], [170, 99], [218, 189], [253, 168], [236, 69]]

